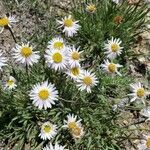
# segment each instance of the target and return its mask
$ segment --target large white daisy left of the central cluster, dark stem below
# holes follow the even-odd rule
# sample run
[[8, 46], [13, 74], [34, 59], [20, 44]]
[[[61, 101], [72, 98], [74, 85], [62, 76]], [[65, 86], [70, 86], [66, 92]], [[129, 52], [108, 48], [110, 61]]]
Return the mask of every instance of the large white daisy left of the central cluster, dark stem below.
[[22, 43], [22, 45], [16, 44], [12, 51], [16, 62], [23, 65], [32, 66], [34, 63], [37, 63], [40, 58], [39, 52], [33, 52], [33, 47], [30, 46], [29, 43]]

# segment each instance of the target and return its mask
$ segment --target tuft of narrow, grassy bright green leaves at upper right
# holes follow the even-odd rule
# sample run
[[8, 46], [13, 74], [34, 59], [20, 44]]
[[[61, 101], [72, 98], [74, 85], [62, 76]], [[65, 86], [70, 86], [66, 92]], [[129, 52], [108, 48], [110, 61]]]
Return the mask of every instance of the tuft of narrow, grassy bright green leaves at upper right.
[[[85, 10], [86, 4], [91, 1], [76, 5], [73, 15], [79, 20], [81, 30], [77, 36], [80, 46], [86, 52], [89, 59], [102, 63], [104, 59], [104, 41], [111, 37], [120, 38], [124, 47], [120, 61], [125, 63], [133, 54], [131, 46], [135, 43], [137, 36], [141, 33], [139, 28], [144, 29], [145, 16], [148, 12], [148, 5], [129, 5], [123, 1], [121, 5], [114, 4], [111, 0], [93, 0], [96, 5], [95, 13]], [[115, 17], [122, 18], [121, 23], [115, 22]]]

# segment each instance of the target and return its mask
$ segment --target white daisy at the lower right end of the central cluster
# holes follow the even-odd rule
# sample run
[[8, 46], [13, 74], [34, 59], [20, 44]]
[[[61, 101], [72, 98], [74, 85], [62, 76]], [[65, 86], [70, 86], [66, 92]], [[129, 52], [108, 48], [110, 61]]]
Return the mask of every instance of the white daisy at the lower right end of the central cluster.
[[86, 90], [88, 93], [91, 93], [91, 88], [96, 86], [97, 83], [97, 78], [94, 73], [91, 73], [91, 71], [84, 70], [77, 79], [77, 86], [79, 87], [79, 90]]

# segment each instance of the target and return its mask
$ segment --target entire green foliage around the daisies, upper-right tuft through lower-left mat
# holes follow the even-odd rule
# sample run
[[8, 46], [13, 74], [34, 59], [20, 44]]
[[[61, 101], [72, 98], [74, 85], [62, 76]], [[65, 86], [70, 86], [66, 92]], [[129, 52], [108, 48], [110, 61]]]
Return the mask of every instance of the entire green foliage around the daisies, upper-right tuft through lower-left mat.
[[[117, 6], [111, 1], [99, 0], [93, 1], [97, 9], [95, 13], [90, 14], [85, 11], [87, 3], [88, 1], [72, 9], [72, 14], [79, 20], [81, 29], [74, 39], [66, 40], [81, 46], [85, 58], [82, 64], [96, 72], [98, 85], [92, 89], [91, 94], [80, 92], [70, 78], [46, 66], [43, 58], [46, 44], [59, 31], [56, 31], [55, 16], [46, 18], [49, 20], [45, 21], [47, 26], [39, 22], [38, 30], [28, 39], [36, 43], [36, 49], [41, 52], [42, 59], [32, 68], [9, 66], [10, 74], [18, 81], [17, 88], [12, 92], [2, 87], [0, 89], [0, 139], [4, 140], [5, 149], [11, 147], [14, 150], [22, 150], [26, 144], [31, 150], [41, 149], [48, 143], [38, 137], [41, 124], [45, 121], [59, 127], [57, 136], [51, 142], [60, 141], [70, 150], [120, 149], [117, 138], [123, 130], [117, 124], [119, 114], [113, 111], [112, 100], [126, 96], [133, 79], [127, 73], [127, 69], [121, 70], [122, 77], [114, 78], [102, 72], [100, 64], [105, 58], [103, 46], [111, 36], [120, 38], [124, 51], [117, 61], [124, 64], [125, 68], [126, 59], [131, 56], [130, 46], [135, 42], [137, 30], [144, 24], [147, 6], [129, 6], [126, 2]], [[44, 10], [41, 10], [40, 4], [35, 0], [33, 4], [36, 16], [42, 18]], [[114, 17], [118, 15], [123, 17], [123, 22], [116, 25]], [[86, 67], [86, 64], [89, 66]], [[59, 91], [59, 101], [51, 109], [38, 110], [33, 106], [29, 92], [33, 85], [45, 80], [55, 84]], [[72, 139], [67, 130], [61, 128], [69, 113], [78, 115], [83, 120], [85, 135], [77, 141]]]

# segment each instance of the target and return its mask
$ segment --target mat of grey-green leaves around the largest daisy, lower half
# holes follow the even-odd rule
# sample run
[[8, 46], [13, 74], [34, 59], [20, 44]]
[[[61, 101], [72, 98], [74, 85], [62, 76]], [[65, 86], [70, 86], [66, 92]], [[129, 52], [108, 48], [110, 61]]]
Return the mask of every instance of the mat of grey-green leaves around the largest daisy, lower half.
[[[110, 97], [122, 97], [120, 87], [122, 91], [126, 90], [131, 82], [128, 76], [123, 77], [124, 79], [116, 77], [112, 80], [111, 77], [100, 75], [103, 77], [99, 79], [99, 85], [93, 89], [92, 94], [87, 94], [79, 92], [72, 81], [64, 75], [49, 72], [56, 75], [53, 78], [52, 76], [46, 78], [56, 84], [60, 100], [52, 109], [40, 111], [33, 106], [28, 93], [35, 83], [45, 80], [43, 75], [46, 72], [41, 65], [33, 68], [36, 70], [30, 70], [30, 81], [25, 75], [25, 70], [18, 70], [15, 76], [19, 81], [17, 89], [10, 95], [5, 91], [2, 92], [1, 107], [4, 110], [1, 112], [1, 135], [9, 142], [17, 143], [14, 149], [17, 149], [16, 147], [21, 149], [25, 143], [30, 143], [32, 149], [40, 143], [43, 144], [38, 138], [41, 123], [50, 120], [61, 128], [68, 113], [74, 113], [83, 118], [85, 136], [77, 143], [73, 140], [70, 142], [69, 133], [60, 129], [56, 137], [58, 141], [67, 144], [70, 149], [118, 149], [114, 142], [120, 132], [119, 126], [115, 123], [118, 115], [112, 110]], [[98, 73], [101, 74], [100, 70]]]

